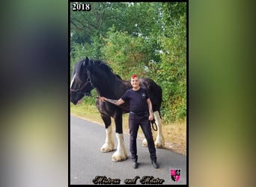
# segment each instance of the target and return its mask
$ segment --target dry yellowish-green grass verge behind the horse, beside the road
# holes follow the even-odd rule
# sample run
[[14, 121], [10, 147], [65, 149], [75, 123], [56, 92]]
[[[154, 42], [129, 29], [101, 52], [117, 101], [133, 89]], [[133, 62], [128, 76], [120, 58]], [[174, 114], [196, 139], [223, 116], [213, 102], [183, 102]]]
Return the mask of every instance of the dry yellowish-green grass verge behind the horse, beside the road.
[[[70, 103], [70, 114], [104, 126], [99, 111], [95, 105], [85, 105], [85, 100], [80, 105]], [[112, 127], [115, 130], [114, 120], [112, 119]], [[125, 134], [129, 134], [128, 114], [123, 114], [123, 129]], [[114, 131], [115, 132], [115, 131]], [[175, 153], [186, 155], [186, 121], [182, 123], [165, 123], [162, 121], [162, 134], [165, 138], [165, 149], [173, 150]], [[153, 131], [153, 137], [156, 132]], [[138, 139], [143, 140], [144, 135], [141, 128], [138, 129]]]

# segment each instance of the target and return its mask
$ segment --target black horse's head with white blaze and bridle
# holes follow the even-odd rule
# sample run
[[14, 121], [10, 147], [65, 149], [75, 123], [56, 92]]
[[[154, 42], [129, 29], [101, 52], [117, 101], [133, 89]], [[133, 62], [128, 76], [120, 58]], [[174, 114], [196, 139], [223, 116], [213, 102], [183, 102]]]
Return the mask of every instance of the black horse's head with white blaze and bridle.
[[70, 100], [74, 105], [84, 96], [91, 96], [94, 85], [91, 83], [91, 73], [88, 70], [89, 59], [84, 58], [73, 68], [70, 84]]

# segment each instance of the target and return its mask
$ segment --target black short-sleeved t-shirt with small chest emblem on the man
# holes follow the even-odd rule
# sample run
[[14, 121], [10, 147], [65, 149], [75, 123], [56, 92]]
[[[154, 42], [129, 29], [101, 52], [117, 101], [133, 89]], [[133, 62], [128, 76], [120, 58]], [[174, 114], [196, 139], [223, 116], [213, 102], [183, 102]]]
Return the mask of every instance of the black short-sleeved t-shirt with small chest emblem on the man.
[[129, 89], [121, 99], [125, 102], [129, 100], [129, 111], [134, 113], [142, 113], [148, 111], [147, 99], [149, 98], [147, 90], [140, 88], [138, 91], [133, 91], [132, 88]]

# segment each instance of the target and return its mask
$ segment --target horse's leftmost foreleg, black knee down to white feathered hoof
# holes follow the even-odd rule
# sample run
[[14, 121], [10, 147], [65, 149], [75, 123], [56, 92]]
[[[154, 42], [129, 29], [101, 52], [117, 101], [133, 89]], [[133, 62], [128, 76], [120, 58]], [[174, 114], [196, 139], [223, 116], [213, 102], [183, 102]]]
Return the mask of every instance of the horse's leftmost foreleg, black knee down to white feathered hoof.
[[111, 118], [106, 114], [101, 114], [101, 118], [105, 123], [106, 141], [100, 150], [102, 152], [109, 152], [114, 150], [114, 147], [115, 147], [114, 135], [113, 135], [112, 126], [111, 126]]

